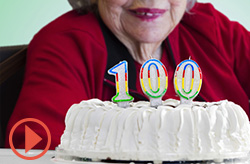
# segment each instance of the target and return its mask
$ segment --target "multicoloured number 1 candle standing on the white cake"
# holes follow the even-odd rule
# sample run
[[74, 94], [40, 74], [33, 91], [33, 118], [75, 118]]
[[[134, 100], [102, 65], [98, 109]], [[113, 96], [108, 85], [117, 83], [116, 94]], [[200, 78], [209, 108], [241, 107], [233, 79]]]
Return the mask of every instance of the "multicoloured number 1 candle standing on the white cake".
[[119, 107], [126, 108], [134, 98], [128, 93], [128, 62], [122, 61], [108, 70], [108, 73], [115, 75], [116, 95], [112, 98]]

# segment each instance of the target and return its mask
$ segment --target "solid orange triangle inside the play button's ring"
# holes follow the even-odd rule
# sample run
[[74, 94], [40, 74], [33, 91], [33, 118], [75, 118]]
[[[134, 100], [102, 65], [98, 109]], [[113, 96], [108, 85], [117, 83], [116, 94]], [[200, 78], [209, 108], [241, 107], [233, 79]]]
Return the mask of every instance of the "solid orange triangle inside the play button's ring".
[[42, 138], [25, 125], [25, 153], [36, 146]]

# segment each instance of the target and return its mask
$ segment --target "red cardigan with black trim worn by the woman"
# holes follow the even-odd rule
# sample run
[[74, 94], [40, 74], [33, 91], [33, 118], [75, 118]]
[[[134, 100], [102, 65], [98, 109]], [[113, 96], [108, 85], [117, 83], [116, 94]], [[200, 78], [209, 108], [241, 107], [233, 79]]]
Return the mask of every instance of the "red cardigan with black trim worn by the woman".
[[[228, 99], [241, 105], [249, 116], [250, 32], [231, 22], [211, 4], [197, 3], [163, 43], [161, 61], [169, 74], [166, 98], [178, 98], [174, 92], [176, 65], [192, 57], [201, 67], [203, 84], [197, 100]], [[60, 142], [68, 108], [81, 100], [111, 100], [115, 95], [114, 78], [107, 69], [120, 60], [129, 62], [129, 88], [135, 100], [143, 95], [138, 72], [127, 49], [94, 15], [70, 11], [35, 35], [28, 48], [23, 88], [9, 121], [6, 147], [11, 127], [20, 119], [37, 118], [52, 134], [50, 149]], [[39, 125], [31, 129], [44, 139], [36, 148], [44, 148], [46, 132]], [[14, 133], [16, 148], [24, 148], [24, 128]]]

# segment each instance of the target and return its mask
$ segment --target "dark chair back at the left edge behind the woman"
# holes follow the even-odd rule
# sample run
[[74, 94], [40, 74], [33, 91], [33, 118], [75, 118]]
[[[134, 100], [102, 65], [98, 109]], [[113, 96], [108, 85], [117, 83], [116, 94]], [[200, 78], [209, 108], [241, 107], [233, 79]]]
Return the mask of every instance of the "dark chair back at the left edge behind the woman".
[[0, 147], [22, 87], [26, 52], [27, 45], [0, 47]]

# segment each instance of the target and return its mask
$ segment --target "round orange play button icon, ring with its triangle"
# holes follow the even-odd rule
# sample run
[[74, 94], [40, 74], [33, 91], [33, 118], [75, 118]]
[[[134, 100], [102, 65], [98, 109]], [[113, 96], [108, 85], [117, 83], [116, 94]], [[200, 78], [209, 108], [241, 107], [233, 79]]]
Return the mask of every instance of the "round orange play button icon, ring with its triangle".
[[[47, 134], [47, 139], [46, 138], [41, 138], [36, 132], [35, 132], [35, 129], [31, 129], [27, 124], [24, 124], [25, 125], [25, 128], [24, 128], [24, 136], [25, 136], [25, 154], [20, 154], [16, 148], [14, 147], [14, 144], [13, 144], [13, 134], [14, 134], [14, 131], [16, 130], [16, 128], [23, 124], [23, 123], [27, 123], [27, 122], [33, 122], [33, 123], [36, 123], [36, 124], [39, 124], [42, 126], [42, 128], [44, 128], [46, 134]], [[30, 156], [31, 154], [29, 153], [29, 151], [35, 147], [39, 142], [41, 142], [43, 140], [43, 142], [47, 141], [47, 145], [46, 147], [43, 149], [43, 151], [38, 154], [38, 155], [35, 155], [35, 156]], [[26, 159], [26, 160], [34, 160], [34, 159], [37, 159], [37, 158], [40, 158], [42, 157], [49, 149], [50, 147], [50, 144], [51, 144], [51, 134], [50, 134], [50, 131], [49, 131], [49, 128], [40, 120], [38, 119], [35, 119], [35, 118], [25, 118], [25, 119], [22, 119], [20, 121], [18, 121], [12, 128], [11, 128], [11, 131], [10, 131], [10, 135], [9, 135], [9, 143], [10, 143], [10, 147], [12, 149], [12, 151], [20, 158], [22, 159]]]

